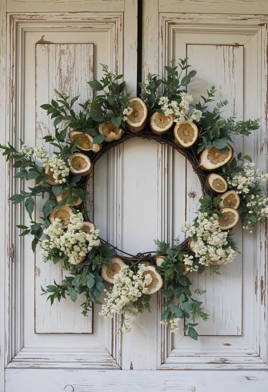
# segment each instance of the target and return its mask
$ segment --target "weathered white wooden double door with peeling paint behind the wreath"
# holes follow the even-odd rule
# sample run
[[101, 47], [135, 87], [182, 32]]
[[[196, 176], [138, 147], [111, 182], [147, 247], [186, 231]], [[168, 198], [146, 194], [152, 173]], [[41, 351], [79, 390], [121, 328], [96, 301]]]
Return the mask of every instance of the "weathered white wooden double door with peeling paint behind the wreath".
[[[40, 143], [51, 129], [40, 104], [51, 98], [53, 87], [90, 96], [86, 81], [100, 78], [100, 63], [124, 73], [135, 94], [137, 6], [137, 0], [1, 3], [2, 20], [7, 12], [7, 37], [2, 35], [0, 47], [3, 74], [7, 43], [7, 140]], [[215, 98], [230, 102], [226, 114], [262, 117], [261, 130], [236, 138], [235, 149], [252, 155], [267, 172], [266, 14], [261, 0], [144, 0], [142, 66], [144, 77], [147, 71], [162, 74], [172, 58], [188, 57], [198, 71], [190, 89], [195, 98], [215, 84]], [[18, 185], [12, 178], [8, 182], [4, 162], [1, 170], [3, 207], [9, 189], [16, 193]], [[98, 161], [94, 191], [94, 223], [102, 238], [133, 253], [154, 247], [155, 238], [180, 234], [185, 217], [194, 216], [200, 186], [170, 147], [132, 139]], [[207, 290], [203, 301], [210, 314], [200, 323], [196, 342], [182, 328], [171, 336], [159, 324], [160, 293], [152, 296], [152, 313], [132, 319], [132, 332], [122, 336], [113, 334], [116, 318], [100, 318], [97, 306], [94, 318], [86, 319], [78, 303], [47, 306], [40, 284], [60, 279], [62, 269], [40, 263], [30, 242], [18, 238], [15, 224], [27, 222], [23, 209], [3, 210], [1, 391], [267, 390], [266, 227], [255, 236], [235, 229], [242, 253], [221, 268], [221, 276], [192, 276], [194, 287]]]

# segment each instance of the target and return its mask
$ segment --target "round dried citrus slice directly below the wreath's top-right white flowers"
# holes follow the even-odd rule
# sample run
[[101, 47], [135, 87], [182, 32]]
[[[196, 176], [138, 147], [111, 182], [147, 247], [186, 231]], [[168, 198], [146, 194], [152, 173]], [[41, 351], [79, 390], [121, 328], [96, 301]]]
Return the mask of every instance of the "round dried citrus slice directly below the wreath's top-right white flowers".
[[191, 147], [198, 137], [198, 128], [195, 123], [191, 121], [183, 121], [176, 124], [173, 130], [174, 142], [178, 147]]

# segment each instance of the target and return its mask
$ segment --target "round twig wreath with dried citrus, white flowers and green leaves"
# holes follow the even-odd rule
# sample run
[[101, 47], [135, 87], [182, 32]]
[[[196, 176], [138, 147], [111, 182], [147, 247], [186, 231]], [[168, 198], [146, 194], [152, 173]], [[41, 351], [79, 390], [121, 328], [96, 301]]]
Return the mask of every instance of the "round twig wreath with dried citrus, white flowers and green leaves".
[[[54, 90], [56, 98], [41, 106], [54, 119], [54, 134], [43, 138], [53, 146], [52, 156], [46, 144], [29, 147], [21, 141], [18, 149], [9, 143], [0, 145], [7, 161], [15, 160], [13, 167], [18, 171], [14, 177], [35, 180], [34, 187], [9, 199], [13, 204], [24, 202], [31, 219], [29, 227], [17, 226], [23, 230], [20, 236], [33, 235], [33, 252], [40, 243], [44, 262], [61, 261], [70, 272], [62, 282], [41, 287], [41, 295], [48, 294], [51, 305], [66, 296], [75, 302], [84, 294], [82, 314], [87, 315], [93, 301], [102, 305], [100, 314], [105, 318], [121, 314], [118, 332], [129, 332], [129, 316], [150, 311], [150, 295], [165, 283], [161, 323], [174, 332], [184, 319], [183, 330], [197, 339], [196, 319], [208, 319], [196, 299], [205, 290], [190, 290], [188, 272], [201, 274], [208, 267], [218, 274], [219, 265], [233, 261], [238, 252], [231, 229], [239, 216], [250, 232], [268, 216], [268, 199], [261, 189], [268, 174], [254, 170], [250, 156], [239, 152], [234, 157], [230, 145], [233, 135], [248, 136], [258, 129], [260, 119], [236, 121], [233, 115], [225, 120], [221, 110], [226, 100], [208, 111], [214, 86], [206, 97], [201, 96], [202, 103], [193, 105], [185, 86], [196, 71], [188, 72], [186, 58], [178, 66], [174, 61], [166, 66], [165, 77], [149, 73], [141, 83], [140, 97], [124, 93], [125, 82], [119, 82], [123, 75], [102, 66], [103, 78], [88, 82], [99, 93], [79, 103], [79, 113], [74, 111], [79, 96], [71, 98], [64, 91]], [[188, 233], [185, 240], [176, 238], [170, 244], [155, 240], [154, 252], [132, 255], [99, 236], [88, 216], [87, 183], [103, 154], [136, 137], [168, 144], [185, 156], [200, 180], [203, 197], [193, 223], [182, 225], [181, 231]], [[32, 218], [36, 196], [44, 199], [41, 221]], [[112, 284], [108, 290], [103, 281]], [[105, 303], [99, 300], [103, 291]]]

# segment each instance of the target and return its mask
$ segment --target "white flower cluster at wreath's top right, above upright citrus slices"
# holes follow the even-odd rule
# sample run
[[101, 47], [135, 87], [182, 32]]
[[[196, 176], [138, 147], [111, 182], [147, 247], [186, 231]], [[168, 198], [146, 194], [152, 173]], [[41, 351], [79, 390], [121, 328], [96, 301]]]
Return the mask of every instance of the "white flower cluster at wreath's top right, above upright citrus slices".
[[169, 101], [167, 97], [162, 96], [159, 99], [159, 105], [166, 116], [169, 114], [173, 114], [174, 122], [180, 124], [185, 120], [189, 121], [199, 121], [202, 112], [197, 109], [193, 109], [192, 113], [189, 113], [189, 108], [191, 103], [193, 102], [192, 95], [188, 93], [181, 94], [181, 101]]

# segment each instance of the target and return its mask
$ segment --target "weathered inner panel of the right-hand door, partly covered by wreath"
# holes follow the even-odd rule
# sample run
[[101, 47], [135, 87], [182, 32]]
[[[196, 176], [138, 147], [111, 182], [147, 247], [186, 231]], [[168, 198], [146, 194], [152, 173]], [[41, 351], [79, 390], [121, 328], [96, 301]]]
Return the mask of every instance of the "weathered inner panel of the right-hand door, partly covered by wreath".
[[[194, 102], [199, 95], [206, 95], [206, 88], [214, 84], [217, 88], [215, 102], [228, 99], [229, 104], [224, 108], [223, 117], [228, 118], [238, 113], [237, 119], [243, 118], [243, 47], [188, 45], [188, 64], [197, 70], [197, 75], [189, 85], [188, 91], [193, 95]], [[208, 105], [208, 110], [214, 106]], [[234, 138], [235, 151], [242, 151], [243, 140]], [[187, 164], [187, 220], [192, 221], [199, 206], [201, 196], [199, 180]], [[190, 198], [194, 192], [197, 196]], [[190, 196], [189, 196], [190, 194]], [[234, 239], [242, 248], [241, 224], [235, 227]], [[209, 270], [198, 276], [192, 274], [192, 287], [206, 289], [204, 306], [210, 318], [205, 323], [202, 320], [198, 326], [201, 335], [240, 335], [242, 333], [242, 257], [237, 255], [229, 265], [220, 267], [221, 275], [215, 276]], [[203, 300], [203, 299], [202, 299]]]

